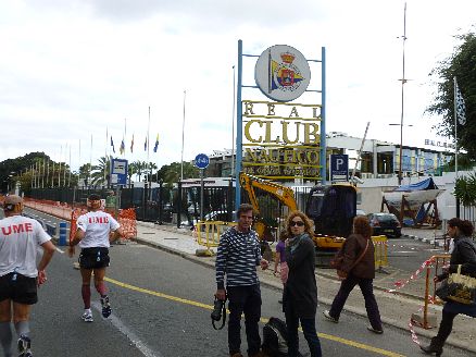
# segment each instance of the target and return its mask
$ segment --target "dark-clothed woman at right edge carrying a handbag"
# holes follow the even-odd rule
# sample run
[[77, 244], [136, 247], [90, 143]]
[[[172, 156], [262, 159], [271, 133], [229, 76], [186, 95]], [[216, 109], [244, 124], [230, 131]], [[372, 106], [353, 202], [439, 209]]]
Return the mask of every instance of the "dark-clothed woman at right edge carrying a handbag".
[[[454, 241], [454, 248], [451, 253], [450, 267], [442, 274], [435, 276], [435, 282], [441, 282], [447, 279], [450, 273], [455, 273], [459, 264], [462, 266], [461, 272], [463, 274], [476, 278], [476, 246], [471, 238], [473, 232], [474, 226], [469, 221], [463, 221], [459, 218], [452, 218], [448, 221], [448, 234]], [[453, 329], [453, 320], [459, 313], [476, 318], [476, 301], [472, 305], [464, 305], [451, 300], [446, 303], [438, 334], [431, 338], [429, 345], [421, 345], [419, 348], [426, 354], [441, 356], [444, 342]]]

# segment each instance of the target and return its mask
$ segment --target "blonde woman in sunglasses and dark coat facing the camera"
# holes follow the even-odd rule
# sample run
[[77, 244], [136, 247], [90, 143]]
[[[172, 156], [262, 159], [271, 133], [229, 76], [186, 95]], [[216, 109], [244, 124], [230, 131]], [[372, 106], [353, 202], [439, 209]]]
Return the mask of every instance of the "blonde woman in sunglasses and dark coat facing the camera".
[[289, 273], [283, 294], [283, 311], [288, 329], [288, 356], [300, 356], [298, 328], [301, 321], [311, 357], [321, 357], [321, 342], [315, 328], [317, 285], [312, 222], [303, 212], [292, 211], [286, 221], [286, 231]]

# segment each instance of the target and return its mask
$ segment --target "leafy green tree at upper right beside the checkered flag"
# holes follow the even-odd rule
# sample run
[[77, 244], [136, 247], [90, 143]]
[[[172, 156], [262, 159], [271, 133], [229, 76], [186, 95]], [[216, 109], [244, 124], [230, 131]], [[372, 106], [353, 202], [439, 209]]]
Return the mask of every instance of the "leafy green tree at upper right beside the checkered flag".
[[461, 45], [454, 53], [429, 73], [437, 85], [435, 101], [427, 108], [430, 114], [442, 116], [435, 125], [439, 135], [454, 138], [454, 85], [453, 77], [466, 104], [466, 124], [458, 125], [458, 146], [467, 151], [469, 160], [476, 159], [476, 34], [454, 36]]

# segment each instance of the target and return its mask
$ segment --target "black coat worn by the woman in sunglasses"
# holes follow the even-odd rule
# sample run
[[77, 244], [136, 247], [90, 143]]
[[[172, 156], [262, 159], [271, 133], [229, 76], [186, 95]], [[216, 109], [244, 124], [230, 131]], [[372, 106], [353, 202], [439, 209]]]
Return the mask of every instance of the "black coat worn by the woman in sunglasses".
[[286, 309], [287, 304], [292, 304], [298, 318], [313, 319], [317, 309], [314, 242], [305, 235], [292, 253], [290, 247], [286, 247], [286, 261], [289, 275], [285, 285], [283, 307]]

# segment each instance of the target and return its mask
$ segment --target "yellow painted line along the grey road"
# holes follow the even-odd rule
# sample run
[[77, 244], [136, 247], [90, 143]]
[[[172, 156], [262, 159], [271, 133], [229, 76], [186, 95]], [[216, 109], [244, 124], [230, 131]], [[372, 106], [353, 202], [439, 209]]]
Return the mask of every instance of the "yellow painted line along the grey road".
[[[208, 309], [208, 310], [212, 310], [213, 309], [213, 306], [208, 305], [208, 304], [202, 304], [202, 303], [189, 300], [189, 299], [186, 299], [186, 298], [181, 298], [181, 297], [177, 297], [177, 296], [172, 296], [172, 295], [154, 292], [154, 291], [151, 291], [151, 290], [148, 290], [148, 288], [134, 286], [134, 285], [130, 285], [130, 284], [127, 284], [127, 283], [123, 283], [123, 282], [120, 282], [120, 281], [111, 279], [111, 278], [104, 278], [104, 280], [110, 282], [110, 283], [112, 283], [112, 284], [114, 284], [114, 285], [117, 285], [117, 286], [121, 286], [121, 287], [124, 287], [124, 288], [128, 288], [128, 290], [131, 290], [131, 291], [135, 291], [135, 292], [138, 292], [138, 293], [143, 293], [143, 294], [148, 294], [148, 295], [152, 295], [152, 296], [156, 296], [156, 297], [162, 297], [162, 298], [165, 298], [165, 299], [168, 299], [168, 300], [173, 300], [173, 301], [177, 301], [177, 303], [181, 303], [181, 304], [187, 304], [187, 305], [191, 305], [191, 306], [197, 306], [197, 307], [201, 307], [201, 308], [204, 308], [204, 309]], [[268, 319], [261, 318], [261, 322], [266, 323], [267, 321], [268, 321]], [[400, 354], [396, 354], [396, 353], [390, 352], [390, 350], [373, 347], [373, 346], [369, 346], [369, 345], [366, 345], [366, 344], [363, 344], [363, 343], [359, 343], [359, 342], [355, 342], [355, 341], [351, 341], [351, 340], [334, 336], [334, 335], [330, 335], [330, 334], [327, 334], [327, 333], [320, 332], [320, 333], [317, 333], [317, 335], [321, 338], [335, 341], [335, 342], [341, 343], [343, 345], [348, 345], [348, 346], [352, 346], [352, 347], [355, 347], [355, 348], [373, 352], [375, 354], [379, 354], [379, 355], [383, 355], [383, 356], [404, 357], [404, 355], [400, 355]]]

